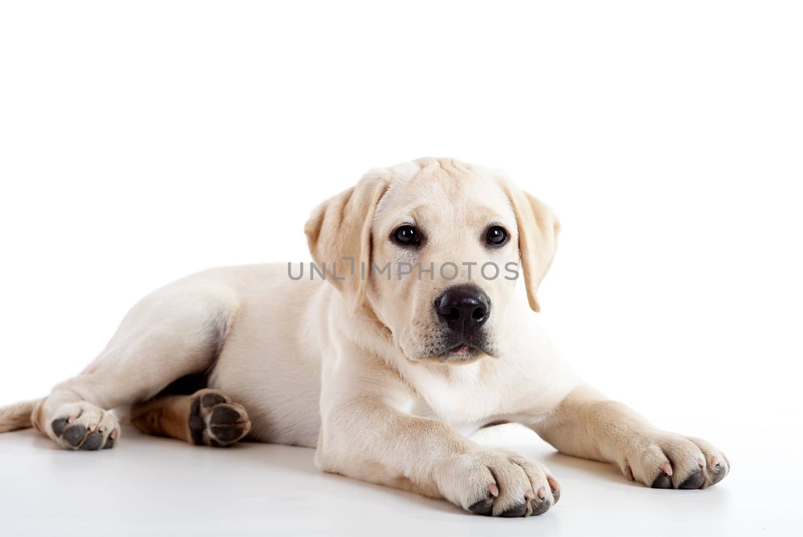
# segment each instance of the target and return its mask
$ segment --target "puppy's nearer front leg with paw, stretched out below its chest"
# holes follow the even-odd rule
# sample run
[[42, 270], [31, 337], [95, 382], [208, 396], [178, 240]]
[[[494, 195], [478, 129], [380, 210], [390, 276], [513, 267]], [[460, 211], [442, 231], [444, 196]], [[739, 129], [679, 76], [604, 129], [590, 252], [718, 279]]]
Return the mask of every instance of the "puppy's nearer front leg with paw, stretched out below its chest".
[[481, 515], [540, 515], [557, 501], [557, 482], [544, 466], [405, 413], [397, 395], [383, 388], [322, 405], [320, 469], [446, 498]]

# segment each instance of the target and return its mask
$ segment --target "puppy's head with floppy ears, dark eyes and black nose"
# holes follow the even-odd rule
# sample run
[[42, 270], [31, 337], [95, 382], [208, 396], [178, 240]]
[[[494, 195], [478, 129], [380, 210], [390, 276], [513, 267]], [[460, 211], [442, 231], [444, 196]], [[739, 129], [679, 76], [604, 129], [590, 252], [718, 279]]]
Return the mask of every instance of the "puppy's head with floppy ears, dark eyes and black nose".
[[540, 311], [559, 229], [502, 173], [452, 159], [373, 169], [304, 228], [355, 315], [383, 323], [409, 360], [449, 363], [503, 352], [518, 277]]

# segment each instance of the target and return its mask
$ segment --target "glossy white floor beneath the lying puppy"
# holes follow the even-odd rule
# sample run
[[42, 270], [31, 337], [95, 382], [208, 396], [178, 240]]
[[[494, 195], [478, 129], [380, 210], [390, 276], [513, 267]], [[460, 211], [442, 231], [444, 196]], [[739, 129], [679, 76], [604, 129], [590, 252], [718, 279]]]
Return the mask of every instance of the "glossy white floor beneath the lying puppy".
[[516, 425], [478, 439], [545, 462], [562, 486], [560, 502], [531, 519], [491, 519], [322, 474], [304, 448], [202, 448], [127, 427], [113, 450], [67, 452], [26, 430], [0, 434], [0, 533], [803, 535], [798, 454], [764, 453], [765, 433], [728, 452], [731, 475], [708, 490], [651, 490], [613, 466], [556, 454]]

